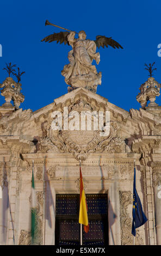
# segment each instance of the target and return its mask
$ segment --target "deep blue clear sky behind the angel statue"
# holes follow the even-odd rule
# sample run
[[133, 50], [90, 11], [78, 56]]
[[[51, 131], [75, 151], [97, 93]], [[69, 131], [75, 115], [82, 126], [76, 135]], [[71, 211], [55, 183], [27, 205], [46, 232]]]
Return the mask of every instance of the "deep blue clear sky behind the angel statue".
[[[17, 64], [26, 74], [22, 76], [20, 107], [35, 111], [67, 93], [61, 76], [69, 63], [71, 47], [41, 42], [46, 35], [60, 32], [45, 21], [72, 31], [84, 30], [87, 38], [112, 36], [122, 46], [97, 49], [101, 55], [97, 71], [102, 71], [102, 84], [97, 93], [109, 102], [129, 111], [140, 108], [136, 100], [139, 87], [148, 78], [144, 64], [156, 62], [154, 77], [161, 82], [161, 57], [158, 57], [161, 2], [149, 0], [124, 1], [1, 1], [0, 4], [0, 83], [7, 77], [5, 63]], [[161, 96], [156, 102], [161, 105]], [[0, 96], [0, 105], [4, 97]]]

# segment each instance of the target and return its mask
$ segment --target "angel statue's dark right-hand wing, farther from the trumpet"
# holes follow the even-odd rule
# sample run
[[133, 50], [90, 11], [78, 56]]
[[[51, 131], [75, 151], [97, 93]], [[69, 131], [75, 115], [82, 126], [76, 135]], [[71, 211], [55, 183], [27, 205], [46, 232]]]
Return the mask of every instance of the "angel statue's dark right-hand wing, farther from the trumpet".
[[123, 47], [119, 44], [119, 42], [116, 42], [112, 38], [107, 38], [104, 35], [97, 35], [95, 40], [96, 46], [100, 48], [102, 46], [104, 48], [104, 45], [108, 47], [108, 45], [112, 46], [113, 48], [121, 48]]

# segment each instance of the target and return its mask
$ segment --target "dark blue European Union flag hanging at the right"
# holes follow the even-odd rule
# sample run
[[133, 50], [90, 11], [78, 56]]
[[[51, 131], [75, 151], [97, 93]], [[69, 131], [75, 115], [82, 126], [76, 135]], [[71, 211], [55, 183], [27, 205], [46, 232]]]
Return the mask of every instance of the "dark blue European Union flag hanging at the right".
[[136, 187], [135, 187], [135, 167], [134, 167], [134, 186], [133, 186], [133, 224], [132, 224], [132, 234], [135, 236], [135, 228], [139, 228], [147, 221], [147, 218], [143, 212], [141, 206], [140, 198], [138, 196]]

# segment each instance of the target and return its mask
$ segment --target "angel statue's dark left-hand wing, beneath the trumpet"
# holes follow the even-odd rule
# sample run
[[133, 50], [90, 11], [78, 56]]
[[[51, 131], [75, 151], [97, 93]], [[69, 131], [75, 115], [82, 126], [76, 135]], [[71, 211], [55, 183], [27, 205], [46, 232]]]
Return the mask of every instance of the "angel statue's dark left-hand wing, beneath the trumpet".
[[45, 41], [45, 42], [53, 42], [53, 41], [57, 41], [60, 42], [60, 44], [62, 44], [64, 42], [64, 44], [68, 44], [69, 45], [69, 41], [67, 41], [67, 35], [69, 35], [69, 32], [60, 32], [60, 33], [54, 33], [51, 35], [46, 36], [44, 39], [42, 39], [41, 41]]

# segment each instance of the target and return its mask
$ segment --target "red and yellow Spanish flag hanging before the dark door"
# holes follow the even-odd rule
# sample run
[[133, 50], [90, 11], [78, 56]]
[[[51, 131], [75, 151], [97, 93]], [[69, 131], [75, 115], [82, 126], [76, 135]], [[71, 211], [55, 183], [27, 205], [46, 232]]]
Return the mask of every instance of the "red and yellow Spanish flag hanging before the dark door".
[[84, 225], [84, 231], [88, 233], [89, 224], [88, 224], [88, 215], [87, 215], [87, 204], [83, 186], [82, 172], [80, 167], [80, 207], [79, 207], [79, 223]]

